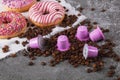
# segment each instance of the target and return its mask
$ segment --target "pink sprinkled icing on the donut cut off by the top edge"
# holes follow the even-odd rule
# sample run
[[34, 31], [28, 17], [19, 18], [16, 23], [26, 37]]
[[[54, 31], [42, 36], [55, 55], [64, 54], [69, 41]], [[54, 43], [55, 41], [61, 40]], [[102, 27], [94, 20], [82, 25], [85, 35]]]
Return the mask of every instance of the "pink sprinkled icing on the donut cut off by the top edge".
[[10, 8], [21, 8], [36, 0], [3, 0], [2, 3]]

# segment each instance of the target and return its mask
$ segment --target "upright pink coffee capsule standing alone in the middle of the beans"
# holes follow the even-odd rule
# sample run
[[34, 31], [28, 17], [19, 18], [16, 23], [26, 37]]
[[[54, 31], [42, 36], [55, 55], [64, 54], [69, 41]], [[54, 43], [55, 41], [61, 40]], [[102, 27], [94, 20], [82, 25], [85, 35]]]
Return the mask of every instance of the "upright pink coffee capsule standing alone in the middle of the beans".
[[57, 39], [57, 48], [59, 51], [67, 51], [69, 50], [70, 43], [65, 35], [60, 35]]

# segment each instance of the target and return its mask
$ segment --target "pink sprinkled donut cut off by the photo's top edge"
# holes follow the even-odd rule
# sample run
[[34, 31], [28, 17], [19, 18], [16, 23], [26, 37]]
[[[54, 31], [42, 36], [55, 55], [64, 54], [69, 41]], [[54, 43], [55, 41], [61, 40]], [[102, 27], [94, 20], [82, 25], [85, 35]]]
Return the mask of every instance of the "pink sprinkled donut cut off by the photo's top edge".
[[2, 3], [8, 11], [24, 12], [35, 4], [36, 0], [3, 0]]

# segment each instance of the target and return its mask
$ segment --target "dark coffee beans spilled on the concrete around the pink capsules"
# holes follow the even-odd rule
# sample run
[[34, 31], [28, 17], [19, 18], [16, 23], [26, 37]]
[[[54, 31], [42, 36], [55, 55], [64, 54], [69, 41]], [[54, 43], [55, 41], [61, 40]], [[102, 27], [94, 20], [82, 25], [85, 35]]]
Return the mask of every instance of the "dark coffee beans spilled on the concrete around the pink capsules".
[[[91, 30], [95, 28], [92, 22], [89, 20], [85, 20], [84, 22], [81, 23], [82, 25], [87, 25], [88, 30]], [[103, 29], [101, 28], [102, 31], [109, 32], [108, 29]], [[104, 44], [98, 45], [96, 42], [88, 41], [88, 42], [81, 42], [75, 38], [76, 34], [76, 28], [71, 28], [69, 30], [65, 30], [61, 33], [58, 33], [54, 36], [52, 36], [50, 39], [45, 39], [46, 40], [46, 45], [47, 48], [45, 51], [41, 51], [40, 49], [32, 49], [32, 48], [27, 48], [27, 50], [23, 51], [24, 56], [28, 56], [30, 60], [35, 60], [36, 57], [40, 56], [52, 56], [52, 59], [49, 61], [50, 66], [55, 66], [59, 64], [62, 61], [68, 61], [71, 65], [74, 67], [78, 67], [80, 65], [85, 65], [91, 67], [91, 69], [88, 69], [87, 72], [96, 72], [100, 71], [104, 68], [104, 57], [108, 58], [113, 58], [116, 61], [120, 61], [120, 57], [114, 52], [113, 47], [115, 44], [110, 40], [106, 39]], [[29, 34], [28, 36], [31, 36], [32, 34]], [[57, 50], [57, 47], [55, 46], [57, 44], [57, 38], [59, 35], [67, 35], [69, 38], [69, 41], [71, 43], [70, 50], [66, 52], [60, 52]], [[91, 46], [95, 46], [99, 49], [99, 55], [96, 58], [88, 58], [87, 60], [84, 59], [83, 57], [83, 46], [84, 44], [87, 43]], [[44, 62], [41, 63], [42, 65], [46, 65]], [[113, 71], [110, 70], [108, 74], [111, 76], [111, 73]]]

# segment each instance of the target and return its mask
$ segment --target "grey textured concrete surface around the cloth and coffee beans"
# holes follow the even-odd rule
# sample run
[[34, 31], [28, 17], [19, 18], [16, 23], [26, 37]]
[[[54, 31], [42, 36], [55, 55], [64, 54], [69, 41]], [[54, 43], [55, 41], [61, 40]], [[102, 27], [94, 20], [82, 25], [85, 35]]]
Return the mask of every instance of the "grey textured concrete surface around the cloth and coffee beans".
[[[120, 55], [120, 0], [67, 0], [77, 7], [79, 3], [85, 7], [83, 14], [92, 21], [97, 21], [100, 26], [109, 28], [110, 32], [105, 34], [111, 38], [117, 46], [115, 51]], [[95, 8], [95, 11], [90, 11]], [[106, 12], [101, 12], [106, 9]], [[86, 73], [87, 67], [73, 68], [67, 62], [56, 67], [41, 66], [41, 61], [47, 61], [50, 57], [40, 57], [35, 60], [35, 66], [27, 66], [28, 58], [19, 55], [16, 58], [7, 58], [0, 61], [0, 80], [114, 80], [120, 76], [120, 63], [112, 59], [104, 59], [105, 69], [100, 72]], [[108, 66], [115, 65], [116, 74], [113, 78], [106, 77]]]

